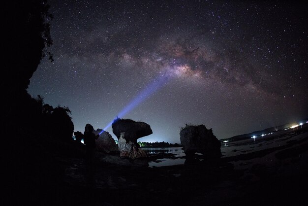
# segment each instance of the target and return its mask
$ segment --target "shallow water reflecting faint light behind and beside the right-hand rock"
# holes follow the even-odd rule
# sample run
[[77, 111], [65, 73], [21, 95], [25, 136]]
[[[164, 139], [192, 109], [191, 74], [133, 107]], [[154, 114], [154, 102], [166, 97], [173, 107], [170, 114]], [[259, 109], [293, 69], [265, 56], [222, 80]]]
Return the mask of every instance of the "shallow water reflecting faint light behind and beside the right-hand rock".
[[[225, 142], [221, 144], [220, 151], [222, 158], [231, 157], [240, 154], [247, 154], [268, 148], [275, 148], [286, 145], [292, 141], [298, 141], [307, 138], [307, 133], [297, 135], [290, 131], [282, 131], [273, 135], [256, 137], [255, 139], [245, 139], [240, 141]], [[172, 165], [182, 165], [185, 163], [185, 153], [182, 147], [167, 148], [143, 148], [151, 155], [168, 156], [149, 162], [149, 167], [162, 167]], [[167, 155], [166, 155], [167, 154]], [[169, 154], [169, 155], [168, 155]], [[196, 153], [199, 154], [199, 153]], [[201, 155], [201, 154], [199, 154]]]

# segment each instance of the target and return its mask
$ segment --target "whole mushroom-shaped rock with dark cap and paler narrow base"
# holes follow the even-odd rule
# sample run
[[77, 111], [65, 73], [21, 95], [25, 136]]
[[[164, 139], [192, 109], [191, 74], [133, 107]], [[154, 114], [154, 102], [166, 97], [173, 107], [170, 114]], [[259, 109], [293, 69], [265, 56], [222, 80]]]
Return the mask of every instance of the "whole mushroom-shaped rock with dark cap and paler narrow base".
[[148, 157], [146, 151], [140, 148], [137, 139], [151, 135], [152, 129], [145, 122], [135, 122], [130, 119], [115, 119], [112, 132], [118, 137], [120, 157], [131, 159]]

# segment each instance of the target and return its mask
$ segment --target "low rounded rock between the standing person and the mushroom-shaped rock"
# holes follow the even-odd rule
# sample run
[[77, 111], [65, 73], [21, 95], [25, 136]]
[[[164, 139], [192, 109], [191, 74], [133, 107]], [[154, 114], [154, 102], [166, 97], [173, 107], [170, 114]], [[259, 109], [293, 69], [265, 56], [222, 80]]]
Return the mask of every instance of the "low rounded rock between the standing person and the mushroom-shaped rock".
[[[102, 129], [97, 129], [96, 131], [93, 131], [93, 133], [95, 135], [98, 135], [101, 131]], [[107, 154], [118, 152], [118, 145], [116, 141], [106, 131], [99, 135], [99, 137], [95, 141], [95, 144], [96, 150], [99, 152], [104, 152]]]

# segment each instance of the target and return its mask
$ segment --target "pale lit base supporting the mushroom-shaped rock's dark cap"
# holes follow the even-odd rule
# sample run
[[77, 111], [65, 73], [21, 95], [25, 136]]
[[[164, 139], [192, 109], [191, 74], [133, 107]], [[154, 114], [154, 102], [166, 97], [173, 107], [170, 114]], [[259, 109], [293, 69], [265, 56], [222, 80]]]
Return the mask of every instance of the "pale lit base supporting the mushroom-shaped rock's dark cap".
[[118, 142], [120, 157], [128, 157], [131, 159], [146, 158], [148, 154], [134, 142], [125, 139], [125, 132], [121, 133]]

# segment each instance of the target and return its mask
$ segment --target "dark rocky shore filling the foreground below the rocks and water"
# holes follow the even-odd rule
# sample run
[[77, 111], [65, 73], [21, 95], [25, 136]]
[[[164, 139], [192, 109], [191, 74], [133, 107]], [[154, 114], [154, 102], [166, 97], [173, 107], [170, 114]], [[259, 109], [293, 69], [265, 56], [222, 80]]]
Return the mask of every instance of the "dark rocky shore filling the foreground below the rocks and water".
[[195, 154], [184, 165], [153, 168], [112, 154], [97, 154], [88, 165], [82, 155], [46, 150], [28, 172], [12, 173], [8, 197], [19, 205], [304, 206], [308, 132], [297, 135], [303, 137], [280, 147], [203, 161]]

